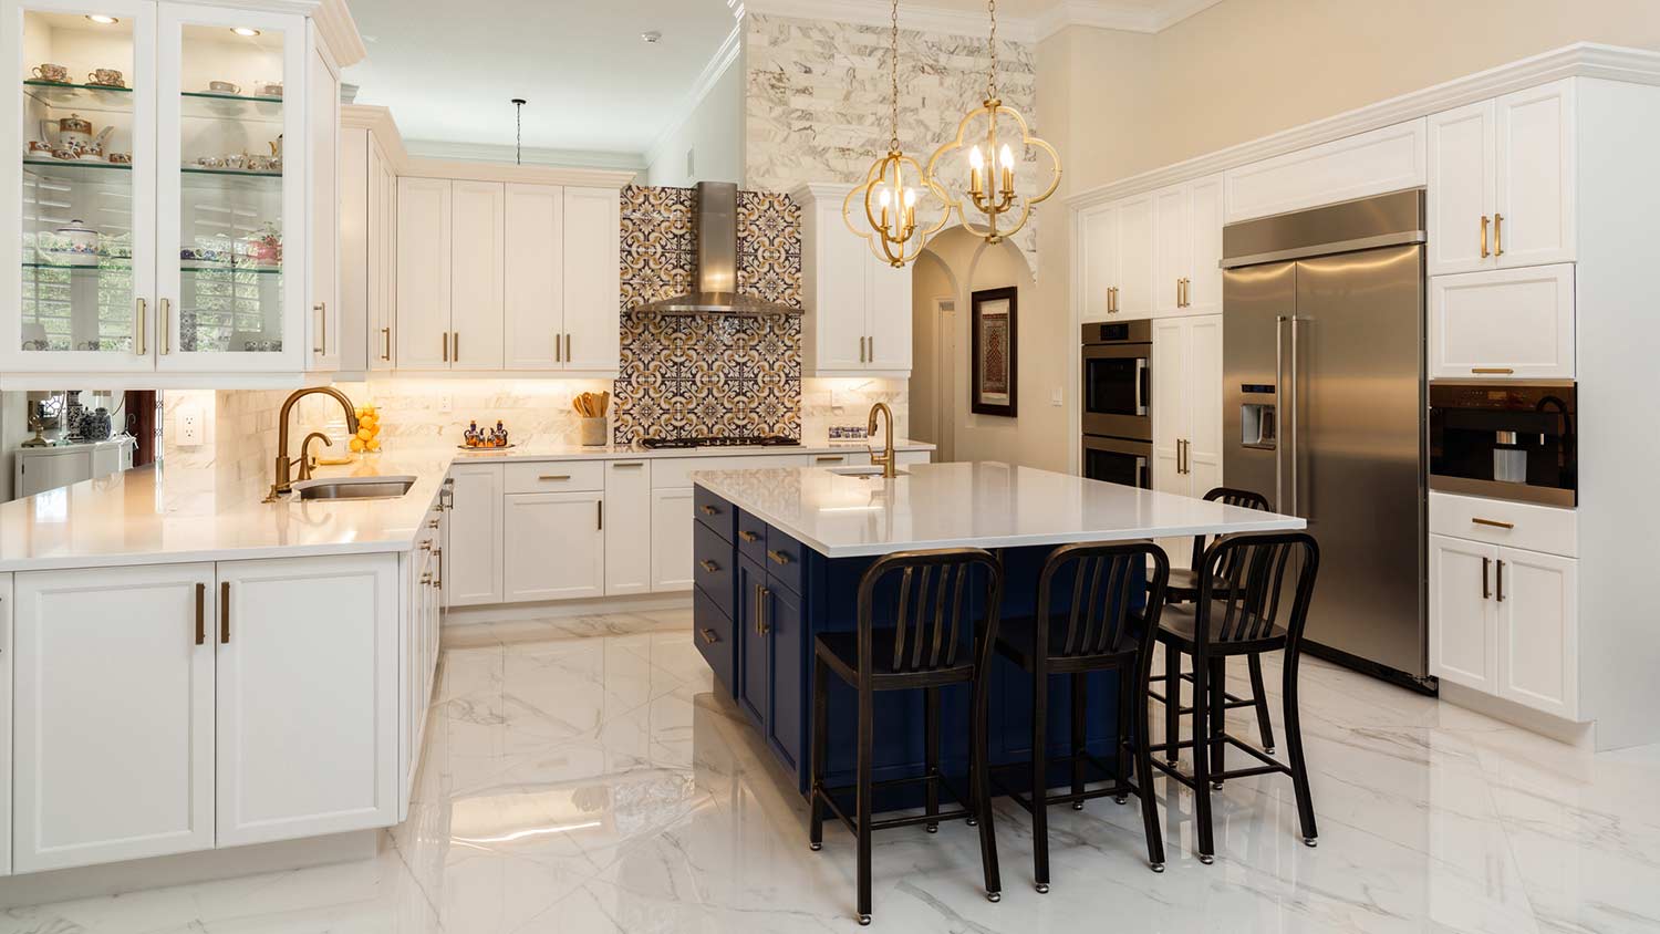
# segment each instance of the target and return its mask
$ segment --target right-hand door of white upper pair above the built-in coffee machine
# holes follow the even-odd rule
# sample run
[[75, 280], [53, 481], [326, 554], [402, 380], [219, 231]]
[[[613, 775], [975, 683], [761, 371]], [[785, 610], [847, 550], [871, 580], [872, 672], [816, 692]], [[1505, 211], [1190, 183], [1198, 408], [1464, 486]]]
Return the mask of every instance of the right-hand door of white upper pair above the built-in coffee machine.
[[1574, 159], [1572, 80], [1499, 98], [1499, 265], [1574, 260]]

